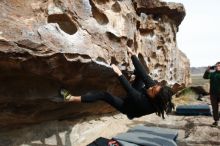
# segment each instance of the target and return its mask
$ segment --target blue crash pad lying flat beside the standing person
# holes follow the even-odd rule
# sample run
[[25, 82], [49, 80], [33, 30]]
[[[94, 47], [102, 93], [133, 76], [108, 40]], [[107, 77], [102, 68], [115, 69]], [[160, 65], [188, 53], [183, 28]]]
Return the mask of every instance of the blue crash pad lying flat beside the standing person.
[[211, 111], [208, 104], [202, 105], [179, 105], [176, 107], [177, 115], [211, 115]]

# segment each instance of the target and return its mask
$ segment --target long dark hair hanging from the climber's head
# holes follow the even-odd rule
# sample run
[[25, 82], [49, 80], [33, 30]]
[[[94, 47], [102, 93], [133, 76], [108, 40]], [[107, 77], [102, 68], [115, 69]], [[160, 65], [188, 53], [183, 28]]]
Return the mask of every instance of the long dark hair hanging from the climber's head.
[[152, 103], [156, 108], [156, 114], [163, 119], [165, 119], [164, 113], [168, 114], [172, 112], [172, 109], [174, 109], [172, 95], [173, 92], [170, 87], [162, 86], [159, 93], [152, 100]]

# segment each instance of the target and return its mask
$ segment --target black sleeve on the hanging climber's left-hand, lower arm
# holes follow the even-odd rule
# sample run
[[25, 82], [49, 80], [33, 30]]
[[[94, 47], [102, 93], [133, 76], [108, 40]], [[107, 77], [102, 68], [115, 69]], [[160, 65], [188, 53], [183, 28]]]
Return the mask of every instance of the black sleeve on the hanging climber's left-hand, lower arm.
[[131, 86], [131, 84], [129, 83], [129, 81], [126, 79], [126, 77], [124, 75], [119, 76], [118, 79], [119, 79], [121, 85], [123, 86], [123, 88], [126, 90], [126, 92], [129, 95], [131, 95], [132, 97], [139, 97], [140, 96], [141, 93]]

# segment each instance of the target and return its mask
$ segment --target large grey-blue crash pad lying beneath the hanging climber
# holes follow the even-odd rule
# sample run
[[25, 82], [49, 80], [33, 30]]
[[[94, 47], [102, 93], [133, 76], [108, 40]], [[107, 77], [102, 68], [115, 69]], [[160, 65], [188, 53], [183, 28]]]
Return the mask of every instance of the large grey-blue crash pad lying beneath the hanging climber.
[[[177, 135], [176, 130], [141, 125], [131, 128], [126, 133], [118, 134], [113, 139], [142, 146], [176, 146], [174, 139]], [[122, 143], [121, 145], [126, 146]]]

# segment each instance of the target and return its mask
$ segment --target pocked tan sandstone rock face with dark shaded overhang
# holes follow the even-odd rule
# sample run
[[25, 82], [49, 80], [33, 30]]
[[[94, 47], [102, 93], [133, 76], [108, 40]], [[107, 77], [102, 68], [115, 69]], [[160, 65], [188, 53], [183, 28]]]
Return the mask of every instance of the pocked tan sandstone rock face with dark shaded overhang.
[[[106, 104], [54, 103], [73, 94], [122, 95], [111, 63], [129, 78], [131, 47], [157, 80], [189, 82], [189, 61], [176, 44], [183, 5], [141, 0], [0, 1], [0, 127], [106, 113]], [[7, 121], [7, 122], [6, 122]]]

